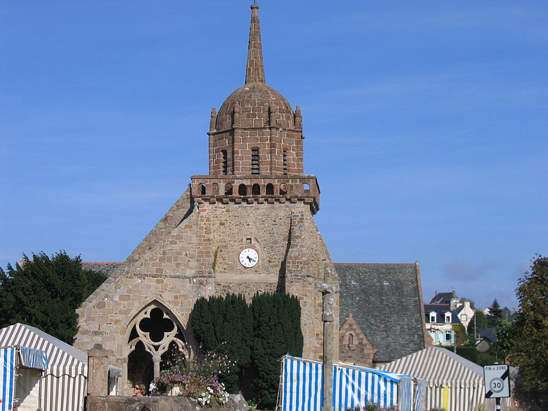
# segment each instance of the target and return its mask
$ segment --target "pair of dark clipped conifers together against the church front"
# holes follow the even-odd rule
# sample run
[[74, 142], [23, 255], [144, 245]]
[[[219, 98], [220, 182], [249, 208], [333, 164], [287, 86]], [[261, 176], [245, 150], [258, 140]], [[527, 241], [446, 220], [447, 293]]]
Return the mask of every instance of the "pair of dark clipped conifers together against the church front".
[[221, 376], [230, 393], [238, 392], [238, 376], [251, 365], [260, 406], [275, 406], [279, 359], [286, 353], [303, 353], [301, 305], [297, 297], [256, 294], [251, 306], [241, 295], [201, 298], [192, 310], [190, 325], [203, 349], [225, 353], [236, 362], [234, 373]]

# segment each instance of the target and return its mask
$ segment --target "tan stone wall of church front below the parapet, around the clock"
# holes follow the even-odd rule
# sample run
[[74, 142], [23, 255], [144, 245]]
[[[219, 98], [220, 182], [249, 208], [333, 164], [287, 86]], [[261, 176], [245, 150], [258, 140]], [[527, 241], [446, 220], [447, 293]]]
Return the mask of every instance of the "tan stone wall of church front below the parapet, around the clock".
[[[77, 310], [75, 347], [88, 351], [102, 343], [112, 350], [110, 363], [123, 369], [122, 393], [127, 393], [127, 358], [132, 351], [128, 341], [142, 312], [160, 308], [192, 345], [188, 319], [199, 297], [232, 292], [250, 301], [256, 292], [277, 290], [299, 298], [303, 356], [321, 359], [322, 299], [316, 285], [323, 281], [325, 264], [333, 263], [310, 206], [199, 203], [188, 214], [190, 201], [185, 197]], [[252, 268], [238, 262], [246, 247], [259, 254]], [[338, 299], [336, 308], [338, 312]]]

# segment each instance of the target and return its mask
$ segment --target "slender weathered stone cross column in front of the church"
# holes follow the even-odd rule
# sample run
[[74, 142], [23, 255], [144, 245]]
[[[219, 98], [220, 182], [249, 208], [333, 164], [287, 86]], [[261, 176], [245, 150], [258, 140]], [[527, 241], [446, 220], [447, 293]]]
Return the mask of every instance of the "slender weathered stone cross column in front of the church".
[[331, 267], [325, 264], [323, 269], [323, 283], [318, 284], [318, 291], [323, 295], [323, 411], [333, 410], [333, 362], [338, 345], [336, 344], [335, 321], [335, 293], [339, 288], [333, 282]]

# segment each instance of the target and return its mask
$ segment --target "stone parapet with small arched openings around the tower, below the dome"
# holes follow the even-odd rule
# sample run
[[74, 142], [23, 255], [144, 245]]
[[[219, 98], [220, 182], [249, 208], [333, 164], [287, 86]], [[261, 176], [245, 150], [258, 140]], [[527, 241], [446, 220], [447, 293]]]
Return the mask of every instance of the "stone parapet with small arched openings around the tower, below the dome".
[[320, 208], [315, 175], [192, 175], [195, 203], [305, 203], [312, 214]]

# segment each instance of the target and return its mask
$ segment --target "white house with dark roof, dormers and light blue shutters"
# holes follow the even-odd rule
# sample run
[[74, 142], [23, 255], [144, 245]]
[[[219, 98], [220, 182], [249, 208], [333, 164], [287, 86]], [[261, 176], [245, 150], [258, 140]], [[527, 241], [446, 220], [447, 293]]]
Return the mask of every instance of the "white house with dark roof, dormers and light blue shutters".
[[455, 344], [453, 325], [462, 324], [458, 311], [451, 310], [449, 304], [425, 304], [426, 331], [432, 337], [432, 344]]

